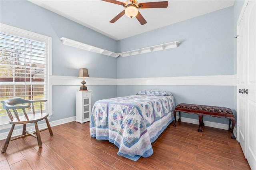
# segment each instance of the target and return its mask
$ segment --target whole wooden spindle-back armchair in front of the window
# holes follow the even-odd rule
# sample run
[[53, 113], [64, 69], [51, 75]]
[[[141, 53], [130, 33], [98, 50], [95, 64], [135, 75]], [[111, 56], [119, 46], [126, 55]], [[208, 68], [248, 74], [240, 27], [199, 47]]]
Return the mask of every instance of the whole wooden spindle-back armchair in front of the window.
[[[41, 140], [40, 132], [48, 129], [50, 132], [50, 135], [52, 135], [52, 129], [51, 129], [50, 123], [47, 119], [49, 114], [42, 112], [42, 102], [46, 102], [46, 101], [47, 100], [25, 100], [25, 99], [21, 99], [21, 98], [6, 99], [6, 100], [1, 101], [1, 103], [3, 104], [3, 108], [6, 109], [8, 117], [10, 118], [10, 124], [12, 124], [10, 132], [6, 138], [5, 143], [4, 143], [4, 147], [2, 148], [2, 153], [6, 151], [10, 141], [16, 140], [19, 138], [24, 138], [24, 137], [30, 136], [30, 135], [37, 138], [38, 146], [39, 146], [39, 148], [42, 148], [42, 140]], [[34, 103], [40, 103], [41, 113], [35, 113]], [[24, 104], [28, 104], [28, 105], [24, 105]], [[33, 114], [26, 113], [25, 109], [28, 107], [32, 107]], [[19, 110], [22, 110], [24, 115], [22, 115], [22, 116], [19, 115], [18, 114]], [[15, 117], [13, 117], [13, 115]], [[48, 128], [39, 130], [37, 122], [41, 121], [43, 119], [45, 119]], [[27, 131], [26, 130], [27, 123], [34, 123], [36, 132]], [[17, 124], [23, 124], [22, 135], [10, 140], [14, 126]]]

